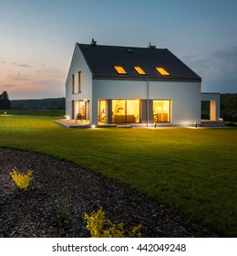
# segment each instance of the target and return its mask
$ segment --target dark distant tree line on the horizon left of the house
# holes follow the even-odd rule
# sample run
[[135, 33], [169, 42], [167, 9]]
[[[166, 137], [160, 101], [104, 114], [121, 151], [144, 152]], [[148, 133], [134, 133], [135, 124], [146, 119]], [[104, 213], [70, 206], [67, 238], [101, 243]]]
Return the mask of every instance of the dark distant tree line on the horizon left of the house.
[[13, 100], [14, 110], [65, 110], [65, 98], [48, 98], [40, 100]]

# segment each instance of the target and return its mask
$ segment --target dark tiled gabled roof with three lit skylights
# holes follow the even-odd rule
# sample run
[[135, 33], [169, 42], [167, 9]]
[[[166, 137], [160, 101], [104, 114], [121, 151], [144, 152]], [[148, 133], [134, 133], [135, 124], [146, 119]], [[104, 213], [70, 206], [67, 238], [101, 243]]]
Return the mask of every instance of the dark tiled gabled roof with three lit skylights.
[[[125, 80], [194, 80], [201, 81], [193, 70], [173, 55], [167, 48], [135, 48], [78, 44], [94, 79]], [[126, 74], [118, 74], [114, 68], [120, 66]], [[134, 67], [146, 73], [140, 75]], [[169, 75], [161, 75], [156, 69], [165, 69]]]

